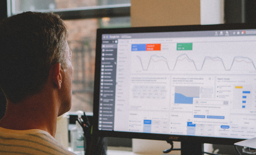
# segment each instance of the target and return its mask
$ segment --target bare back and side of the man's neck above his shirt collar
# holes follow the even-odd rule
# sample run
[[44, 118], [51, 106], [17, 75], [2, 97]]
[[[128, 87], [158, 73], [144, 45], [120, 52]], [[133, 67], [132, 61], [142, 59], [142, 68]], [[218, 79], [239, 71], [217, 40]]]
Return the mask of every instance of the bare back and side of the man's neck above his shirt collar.
[[51, 93], [36, 94], [21, 103], [8, 102], [0, 127], [11, 130], [40, 129], [55, 137], [58, 112], [58, 101]]

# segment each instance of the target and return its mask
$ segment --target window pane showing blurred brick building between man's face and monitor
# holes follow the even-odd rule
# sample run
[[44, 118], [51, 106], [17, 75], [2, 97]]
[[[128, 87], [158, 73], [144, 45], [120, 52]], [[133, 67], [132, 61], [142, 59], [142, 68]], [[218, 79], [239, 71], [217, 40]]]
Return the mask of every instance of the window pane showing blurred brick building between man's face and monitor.
[[99, 27], [129, 27], [130, 17], [64, 20], [64, 22], [68, 27], [68, 44], [72, 51], [74, 69], [70, 111], [92, 112], [96, 30]]

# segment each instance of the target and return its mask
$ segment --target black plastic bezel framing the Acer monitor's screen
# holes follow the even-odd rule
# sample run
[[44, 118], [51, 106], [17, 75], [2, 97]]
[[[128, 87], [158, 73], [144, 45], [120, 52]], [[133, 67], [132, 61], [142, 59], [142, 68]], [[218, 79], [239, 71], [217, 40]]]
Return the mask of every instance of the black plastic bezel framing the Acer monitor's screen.
[[179, 31], [217, 31], [217, 30], [247, 30], [256, 29], [256, 24], [217, 24], [217, 25], [182, 25], [182, 26], [161, 26], [161, 27], [132, 27], [132, 28], [110, 28], [98, 29], [96, 36], [96, 58], [95, 58], [95, 81], [93, 97], [93, 129], [92, 134], [102, 137], [120, 137], [120, 138], [138, 138], [148, 140], [173, 140], [173, 141], [190, 141], [210, 144], [233, 145], [244, 139], [236, 138], [218, 138], [218, 137], [201, 137], [191, 135], [168, 135], [152, 134], [140, 132], [121, 132], [121, 131], [102, 131], [98, 130], [99, 116], [99, 88], [101, 73], [101, 44], [102, 34], [124, 34], [124, 33], [143, 33], [143, 32], [179, 32]]

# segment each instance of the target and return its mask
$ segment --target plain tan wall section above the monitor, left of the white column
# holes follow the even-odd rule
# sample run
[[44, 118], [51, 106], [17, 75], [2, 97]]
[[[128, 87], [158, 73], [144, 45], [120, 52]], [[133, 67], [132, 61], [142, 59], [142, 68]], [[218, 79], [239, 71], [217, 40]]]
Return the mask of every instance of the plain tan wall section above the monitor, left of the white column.
[[200, 24], [200, 0], [131, 0], [131, 26]]

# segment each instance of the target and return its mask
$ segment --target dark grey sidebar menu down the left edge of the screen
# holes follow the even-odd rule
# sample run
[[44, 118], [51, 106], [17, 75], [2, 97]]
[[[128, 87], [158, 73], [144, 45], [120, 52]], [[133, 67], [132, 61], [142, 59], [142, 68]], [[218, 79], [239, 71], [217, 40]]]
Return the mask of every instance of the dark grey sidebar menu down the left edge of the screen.
[[99, 130], [114, 130], [117, 43], [103, 40], [101, 45]]

